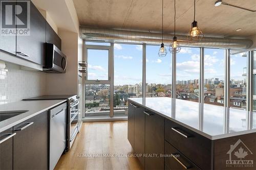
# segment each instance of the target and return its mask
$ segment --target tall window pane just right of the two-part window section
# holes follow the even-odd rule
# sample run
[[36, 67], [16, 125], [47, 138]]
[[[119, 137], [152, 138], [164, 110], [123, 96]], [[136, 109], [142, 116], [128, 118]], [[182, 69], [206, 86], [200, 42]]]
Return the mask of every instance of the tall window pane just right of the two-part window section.
[[142, 97], [142, 45], [114, 44], [114, 116], [127, 115], [127, 98]]

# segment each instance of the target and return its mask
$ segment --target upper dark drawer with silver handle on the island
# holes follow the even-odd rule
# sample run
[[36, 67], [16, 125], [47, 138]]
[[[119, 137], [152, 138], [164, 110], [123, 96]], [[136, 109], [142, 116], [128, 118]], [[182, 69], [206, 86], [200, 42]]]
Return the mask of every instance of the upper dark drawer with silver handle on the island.
[[165, 118], [165, 140], [200, 168], [212, 168], [210, 139]]

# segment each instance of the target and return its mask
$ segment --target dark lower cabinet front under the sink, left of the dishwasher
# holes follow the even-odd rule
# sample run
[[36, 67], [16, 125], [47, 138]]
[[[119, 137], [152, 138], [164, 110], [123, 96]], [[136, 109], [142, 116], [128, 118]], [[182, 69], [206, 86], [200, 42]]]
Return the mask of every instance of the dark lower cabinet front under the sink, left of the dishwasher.
[[0, 169], [12, 169], [12, 128], [0, 133]]

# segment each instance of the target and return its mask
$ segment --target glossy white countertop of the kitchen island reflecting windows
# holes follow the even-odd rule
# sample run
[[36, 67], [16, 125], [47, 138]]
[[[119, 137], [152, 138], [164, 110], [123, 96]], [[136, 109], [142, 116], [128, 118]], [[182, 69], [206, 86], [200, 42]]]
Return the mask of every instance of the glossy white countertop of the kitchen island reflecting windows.
[[256, 112], [172, 98], [129, 100], [211, 140], [256, 132]]

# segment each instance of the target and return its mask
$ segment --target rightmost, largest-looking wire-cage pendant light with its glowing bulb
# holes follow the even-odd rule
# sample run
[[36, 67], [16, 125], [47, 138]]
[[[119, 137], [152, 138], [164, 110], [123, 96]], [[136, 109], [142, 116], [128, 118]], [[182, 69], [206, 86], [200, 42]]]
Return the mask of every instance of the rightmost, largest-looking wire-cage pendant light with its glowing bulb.
[[199, 42], [203, 38], [203, 33], [198, 27], [198, 23], [195, 20], [196, 17], [196, 0], [194, 0], [194, 21], [191, 23], [191, 29], [187, 34], [187, 40], [190, 43]]

